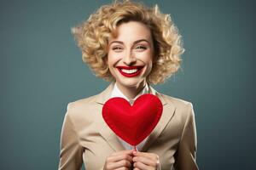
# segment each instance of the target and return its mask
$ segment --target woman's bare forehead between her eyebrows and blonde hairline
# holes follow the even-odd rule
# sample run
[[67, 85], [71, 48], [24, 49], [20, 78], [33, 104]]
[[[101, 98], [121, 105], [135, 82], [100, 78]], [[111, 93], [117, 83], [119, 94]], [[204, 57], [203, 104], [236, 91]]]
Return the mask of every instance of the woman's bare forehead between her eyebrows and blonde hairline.
[[142, 22], [129, 21], [121, 23], [116, 30], [116, 37], [110, 37], [110, 42], [119, 40], [123, 42], [134, 42], [138, 39], [147, 39], [152, 42], [151, 31]]

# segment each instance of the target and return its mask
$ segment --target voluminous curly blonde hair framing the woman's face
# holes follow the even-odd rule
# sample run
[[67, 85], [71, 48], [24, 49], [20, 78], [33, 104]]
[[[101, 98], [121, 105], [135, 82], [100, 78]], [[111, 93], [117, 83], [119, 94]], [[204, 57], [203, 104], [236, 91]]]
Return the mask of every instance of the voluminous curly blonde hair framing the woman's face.
[[84, 63], [107, 81], [113, 81], [108, 65], [108, 39], [116, 37], [117, 26], [128, 21], [139, 21], [148, 26], [154, 42], [154, 59], [152, 71], [147, 77], [148, 83], [165, 82], [181, 64], [181, 54], [184, 52], [181, 35], [172, 22], [169, 14], [160, 13], [157, 5], [148, 8], [143, 3], [131, 1], [115, 1], [103, 5], [95, 14], [72, 28], [73, 35], [82, 50]]

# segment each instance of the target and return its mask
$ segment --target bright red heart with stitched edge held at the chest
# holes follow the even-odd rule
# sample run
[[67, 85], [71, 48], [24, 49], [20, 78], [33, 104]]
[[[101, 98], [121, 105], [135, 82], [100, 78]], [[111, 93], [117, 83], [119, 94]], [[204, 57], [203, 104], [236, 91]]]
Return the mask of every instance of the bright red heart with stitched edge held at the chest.
[[163, 105], [153, 94], [143, 94], [131, 106], [126, 99], [112, 98], [103, 105], [102, 116], [114, 133], [131, 145], [147, 138], [160, 120]]

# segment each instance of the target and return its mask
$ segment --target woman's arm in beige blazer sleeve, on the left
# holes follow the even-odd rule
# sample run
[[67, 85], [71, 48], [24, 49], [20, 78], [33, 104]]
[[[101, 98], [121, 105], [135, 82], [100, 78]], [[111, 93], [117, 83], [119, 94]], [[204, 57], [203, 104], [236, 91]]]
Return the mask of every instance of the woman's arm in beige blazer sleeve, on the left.
[[67, 105], [67, 113], [61, 130], [61, 153], [59, 170], [79, 170], [82, 167], [83, 148], [79, 144], [79, 137], [73, 127]]

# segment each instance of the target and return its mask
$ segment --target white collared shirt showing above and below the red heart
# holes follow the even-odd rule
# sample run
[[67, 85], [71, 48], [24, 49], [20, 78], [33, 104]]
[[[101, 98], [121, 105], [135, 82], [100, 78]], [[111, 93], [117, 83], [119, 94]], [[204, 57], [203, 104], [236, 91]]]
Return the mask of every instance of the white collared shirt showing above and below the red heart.
[[[136, 96], [134, 99], [128, 99], [128, 98], [125, 96], [125, 94], [123, 94], [123, 93], [119, 90], [117, 84], [114, 83], [113, 91], [112, 91], [110, 97], [111, 97], [111, 98], [114, 98], [114, 97], [121, 97], [121, 98], [124, 98], [124, 99], [126, 99], [131, 105], [133, 105], [134, 101], [135, 101], [139, 96], [141, 96], [141, 95], [143, 95], [143, 94], [148, 94], [148, 92], [149, 92], [149, 90], [148, 90], [148, 84], [146, 83], [146, 86], [143, 88], [143, 90], [142, 90], [139, 94], [137, 94], [137, 96]], [[118, 138], [119, 138], [119, 136], [118, 136]], [[147, 139], [148, 139], [148, 137], [147, 137], [146, 139], [143, 139], [143, 141], [142, 141], [140, 144], [137, 144], [137, 146], [136, 146], [137, 150], [139, 150], [139, 151], [142, 150], [143, 145], [146, 143]], [[128, 144], [127, 142], [125, 142], [125, 140], [120, 139], [120, 138], [119, 138], [119, 140], [120, 140], [121, 144], [123, 144], [123, 146], [125, 147], [125, 150], [132, 150], [132, 149], [133, 149], [133, 146], [132, 146], [131, 144]]]

